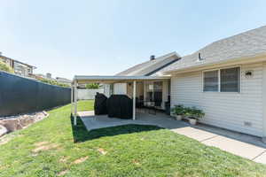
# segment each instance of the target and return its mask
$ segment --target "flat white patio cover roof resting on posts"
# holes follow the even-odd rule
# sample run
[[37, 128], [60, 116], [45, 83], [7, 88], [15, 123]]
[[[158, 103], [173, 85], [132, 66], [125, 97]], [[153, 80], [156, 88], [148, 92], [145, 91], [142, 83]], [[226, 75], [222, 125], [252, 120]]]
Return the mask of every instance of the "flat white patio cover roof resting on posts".
[[156, 81], [168, 80], [169, 76], [102, 76], [102, 75], [76, 75], [74, 81], [76, 83], [115, 83], [115, 82], [132, 82], [132, 81]]

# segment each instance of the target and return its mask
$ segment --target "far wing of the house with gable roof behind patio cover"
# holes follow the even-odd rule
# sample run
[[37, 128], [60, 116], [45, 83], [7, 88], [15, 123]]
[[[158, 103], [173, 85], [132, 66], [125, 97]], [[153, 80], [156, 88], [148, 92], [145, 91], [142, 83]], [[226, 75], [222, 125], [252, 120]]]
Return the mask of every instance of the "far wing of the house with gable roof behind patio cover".
[[[117, 73], [115, 76], [163, 76], [160, 73], [162, 68], [175, 63], [180, 56], [176, 52], [168, 53], [167, 55], [155, 58], [151, 56], [150, 60], [134, 65], [129, 69]], [[133, 84], [132, 82], [123, 83], [117, 82], [113, 84], [105, 84], [104, 90], [106, 96], [111, 94], [125, 94], [133, 97]], [[156, 101], [157, 107], [161, 110], [165, 109], [165, 103], [168, 102], [170, 96], [170, 78], [165, 77], [164, 80], [151, 80], [151, 81], [137, 81], [136, 96], [138, 99], [149, 102]]]

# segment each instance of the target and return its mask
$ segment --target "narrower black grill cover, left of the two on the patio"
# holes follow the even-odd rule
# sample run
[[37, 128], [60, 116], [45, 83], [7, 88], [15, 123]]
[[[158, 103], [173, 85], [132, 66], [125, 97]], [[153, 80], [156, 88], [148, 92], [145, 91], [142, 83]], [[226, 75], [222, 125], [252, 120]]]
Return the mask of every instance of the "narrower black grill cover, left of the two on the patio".
[[94, 113], [95, 115], [107, 114], [106, 108], [107, 97], [104, 94], [97, 93], [94, 102]]

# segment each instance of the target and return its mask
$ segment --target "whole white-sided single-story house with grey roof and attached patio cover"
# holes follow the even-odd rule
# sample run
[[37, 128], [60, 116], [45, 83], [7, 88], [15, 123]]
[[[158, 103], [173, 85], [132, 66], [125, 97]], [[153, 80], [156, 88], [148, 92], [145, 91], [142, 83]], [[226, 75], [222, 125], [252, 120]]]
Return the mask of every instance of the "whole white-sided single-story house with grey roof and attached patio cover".
[[[202, 123], [266, 136], [266, 26], [212, 42], [191, 55], [176, 52], [135, 65], [114, 76], [75, 76], [105, 83], [106, 95], [196, 106]], [[133, 86], [132, 86], [133, 85]], [[133, 104], [135, 107], [135, 104]], [[134, 110], [135, 108], [133, 108]]]

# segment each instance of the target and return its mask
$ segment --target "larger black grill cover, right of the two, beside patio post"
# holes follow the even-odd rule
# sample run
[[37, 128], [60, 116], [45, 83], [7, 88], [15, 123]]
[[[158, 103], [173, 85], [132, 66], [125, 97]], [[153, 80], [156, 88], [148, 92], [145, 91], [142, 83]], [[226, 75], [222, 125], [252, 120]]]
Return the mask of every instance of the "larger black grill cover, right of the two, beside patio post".
[[133, 101], [126, 95], [112, 95], [107, 99], [108, 117], [132, 119]]

